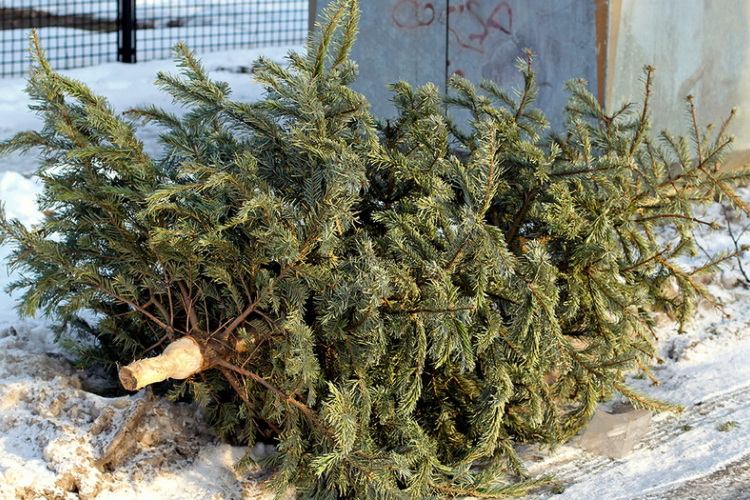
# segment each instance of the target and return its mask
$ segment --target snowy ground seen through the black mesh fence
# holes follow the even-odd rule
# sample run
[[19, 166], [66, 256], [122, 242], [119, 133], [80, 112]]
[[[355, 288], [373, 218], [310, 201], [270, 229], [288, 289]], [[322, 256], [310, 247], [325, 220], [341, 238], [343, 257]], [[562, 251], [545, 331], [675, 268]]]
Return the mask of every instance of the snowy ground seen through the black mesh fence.
[[[115, 21], [117, 5], [117, 0], [3, 0], [0, 8]], [[139, 61], [168, 58], [177, 40], [202, 47], [204, 52], [303, 40], [308, 29], [307, 5], [307, 0], [138, 0], [137, 57]], [[28, 67], [27, 60], [21, 62], [18, 54], [26, 53], [30, 31], [30, 28], [0, 30], [3, 48], [0, 61], [13, 74]], [[115, 31], [89, 31], [53, 22], [50, 27], [38, 28], [37, 33], [42, 41], [52, 41], [46, 45], [46, 51], [53, 67], [88, 66], [116, 59]]]

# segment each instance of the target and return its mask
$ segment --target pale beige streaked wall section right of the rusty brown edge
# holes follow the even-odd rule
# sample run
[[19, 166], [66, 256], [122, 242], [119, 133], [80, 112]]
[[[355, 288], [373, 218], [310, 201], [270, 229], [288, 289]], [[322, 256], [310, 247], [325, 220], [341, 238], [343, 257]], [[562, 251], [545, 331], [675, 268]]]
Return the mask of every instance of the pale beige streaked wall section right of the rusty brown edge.
[[[654, 128], [688, 130], [687, 95], [699, 121], [720, 126], [733, 106], [735, 150], [750, 148], [750, 2], [622, 0], [610, 60], [611, 105], [642, 98], [642, 68], [656, 68]], [[612, 31], [610, 36], [614, 35]]]

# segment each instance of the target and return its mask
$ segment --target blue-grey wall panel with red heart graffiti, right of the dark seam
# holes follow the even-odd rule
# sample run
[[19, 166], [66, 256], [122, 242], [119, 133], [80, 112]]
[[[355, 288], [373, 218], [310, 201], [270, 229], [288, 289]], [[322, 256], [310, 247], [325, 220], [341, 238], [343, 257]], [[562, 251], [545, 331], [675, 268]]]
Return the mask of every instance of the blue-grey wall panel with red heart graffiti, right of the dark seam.
[[452, 0], [451, 8], [450, 73], [477, 84], [487, 79], [506, 90], [522, 88], [516, 62], [530, 49], [539, 87], [536, 104], [553, 125], [563, 121], [566, 82], [583, 78], [596, 93], [593, 0]]

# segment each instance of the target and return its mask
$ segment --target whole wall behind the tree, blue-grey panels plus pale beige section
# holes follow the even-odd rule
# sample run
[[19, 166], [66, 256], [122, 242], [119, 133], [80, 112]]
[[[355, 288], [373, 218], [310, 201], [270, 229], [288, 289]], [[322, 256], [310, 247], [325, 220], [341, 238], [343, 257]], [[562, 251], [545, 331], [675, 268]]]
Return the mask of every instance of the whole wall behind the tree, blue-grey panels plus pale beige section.
[[[327, 0], [317, 2], [318, 13]], [[536, 56], [538, 104], [563, 119], [565, 82], [583, 78], [608, 109], [642, 98], [656, 67], [654, 128], [687, 132], [685, 97], [702, 123], [740, 108], [735, 150], [750, 149], [750, 0], [360, 0], [356, 89], [381, 117], [399, 79], [444, 88], [453, 72], [506, 89], [521, 85], [517, 57]]]

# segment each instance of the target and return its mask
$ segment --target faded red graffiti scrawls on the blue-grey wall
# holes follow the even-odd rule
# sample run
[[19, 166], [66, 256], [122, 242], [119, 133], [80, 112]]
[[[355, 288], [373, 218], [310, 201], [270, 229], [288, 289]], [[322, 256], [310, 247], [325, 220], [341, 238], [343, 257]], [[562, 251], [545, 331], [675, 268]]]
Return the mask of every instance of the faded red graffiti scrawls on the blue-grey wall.
[[498, 30], [506, 35], [512, 33], [513, 9], [503, 1], [495, 4], [487, 17], [483, 17], [480, 11], [479, 0], [467, 0], [443, 9], [439, 14], [432, 2], [399, 0], [393, 8], [393, 23], [399, 28], [421, 28], [430, 26], [435, 19], [444, 26], [448, 22], [448, 31], [454, 43], [463, 49], [484, 54], [484, 44], [490, 30]]

